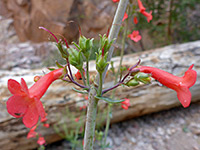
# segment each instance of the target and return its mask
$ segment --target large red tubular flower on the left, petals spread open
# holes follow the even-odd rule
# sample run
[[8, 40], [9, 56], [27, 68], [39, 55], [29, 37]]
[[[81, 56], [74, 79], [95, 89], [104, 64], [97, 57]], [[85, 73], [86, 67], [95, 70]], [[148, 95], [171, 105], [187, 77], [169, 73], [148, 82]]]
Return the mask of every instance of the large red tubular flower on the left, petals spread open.
[[8, 89], [13, 94], [7, 101], [7, 111], [16, 118], [23, 118], [26, 127], [31, 128], [41, 121], [46, 120], [40, 98], [44, 95], [50, 84], [63, 75], [63, 68], [54, 70], [41, 77], [30, 89], [21, 78], [21, 84], [13, 79], [8, 80]]

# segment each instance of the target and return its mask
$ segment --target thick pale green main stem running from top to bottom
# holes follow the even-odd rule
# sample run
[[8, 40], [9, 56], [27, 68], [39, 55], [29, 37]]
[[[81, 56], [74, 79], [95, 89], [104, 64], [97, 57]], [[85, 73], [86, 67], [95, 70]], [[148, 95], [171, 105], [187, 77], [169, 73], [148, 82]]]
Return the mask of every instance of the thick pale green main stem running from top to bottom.
[[[120, 0], [118, 4], [118, 8], [117, 8], [114, 21], [113, 21], [110, 34], [109, 34], [110, 41], [114, 38], [117, 38], [118, 36], [120, 24], [122, 22], [122, 18], [124, 16], [127, 4], [128, 4], [128, 0]], [[111, 60], [113, 50], [114, 50], [114, 47], [111, 46], [109, 50], [108, 61]], [[107, 72], [107, 68], [105, 69], [102, 76], [102, 82], [101, 82], [102, 84], [105, 79], [106, 72]], [[101, 85], [101, 90], [99, 88], [99, 91], [102, 91], [102, 85]], [[96, 113], [97, 113], [97, 104], [98, 104], [98, 100], [95, 98], [95, 95], [96, 95], [96, 90], [95, 90], [94, 85], [92, 85], [89, 92], [89, 103], [88, 103], [88, 109], [87, 109], [86, 129], [85, 129], [84, 147], [83, 147], [84, 150], [93, 150], [95, 122], [96, 122]]]

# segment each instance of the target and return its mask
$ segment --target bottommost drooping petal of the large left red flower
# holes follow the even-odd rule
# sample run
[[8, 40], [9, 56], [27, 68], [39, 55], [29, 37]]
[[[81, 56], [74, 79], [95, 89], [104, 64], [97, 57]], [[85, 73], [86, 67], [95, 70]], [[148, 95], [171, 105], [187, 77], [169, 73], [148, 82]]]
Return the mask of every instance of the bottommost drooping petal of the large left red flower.
[[28, 109], [23, 117], [23, 123], [27, 128], [31, 128], [36, 125], [39, 119], [38, 109], [34, 104], [35, 103], [31, 103], [28, 106]]

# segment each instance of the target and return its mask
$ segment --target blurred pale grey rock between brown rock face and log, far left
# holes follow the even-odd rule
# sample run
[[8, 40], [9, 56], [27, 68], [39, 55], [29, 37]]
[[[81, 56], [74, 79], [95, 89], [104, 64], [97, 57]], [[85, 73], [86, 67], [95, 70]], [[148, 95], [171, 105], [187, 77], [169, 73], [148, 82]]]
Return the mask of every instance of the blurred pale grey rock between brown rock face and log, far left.
[[0, 44], [0, 68], [7, 70], [33, 69], [41, 68], [45, 63], [46, 66], [49, 66], [50, 60], [52, 64], [55, 64], [56, 58], [51, 59], [51, 55], [54, 55], [55, 52], [58, 53], [56, 46], [50, 42]]

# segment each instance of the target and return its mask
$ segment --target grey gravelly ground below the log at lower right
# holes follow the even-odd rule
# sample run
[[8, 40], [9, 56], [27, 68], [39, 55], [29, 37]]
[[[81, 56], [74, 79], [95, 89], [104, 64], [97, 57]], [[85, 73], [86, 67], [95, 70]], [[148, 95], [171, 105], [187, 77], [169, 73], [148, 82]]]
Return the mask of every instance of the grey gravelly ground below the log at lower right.
[[[200, 103], [195, 103], [113, 124], [107, 150], [200, 150], [199, 116]], [[53, 149], [69, 150], [69, 143], [46, 147]]]

